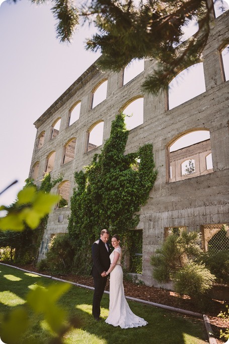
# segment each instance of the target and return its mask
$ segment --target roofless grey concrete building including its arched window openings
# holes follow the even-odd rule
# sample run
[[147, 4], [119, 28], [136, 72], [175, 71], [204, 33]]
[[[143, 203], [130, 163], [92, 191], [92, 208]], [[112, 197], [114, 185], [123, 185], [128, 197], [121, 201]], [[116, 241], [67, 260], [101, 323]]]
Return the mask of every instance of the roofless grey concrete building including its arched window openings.
[[[152, 72], [153, 61], [144, 61], [144, 70], [125, 85], [123, 72], [102, 73], [93, 64], [35, 122], [37, 136], [30, 177], [39, 185], [44, 171], [50, 171], [52, 178], [63, 174], [63, 181], [53, 190], [61, 195], [62, 203], [49, 215], [39, 259], [45, 257], [50, 238], [66, 232], [74, 171], [83, 169], [101, 151], [115, 115], [120, 110], [125, 112], [135, 101], [142, 102], [142, 116], [139, 113], [137, 125], [132, 124], [126, 153], [152, 143], [159, 170], [136, 228], [142, 231], [143, 239], [141, 279], [148, 285], [158, 285], [151, 276], [150, 256], [160, 247], [169, 228], [201, 231], [206, 241], [229, 222], [229, 77], [224, 59], [228, 33], [227, 11], [212, 21], [203, 51], [203, 76], [198, 76], [196, 85], [202, 78], [205, 89], [182, 104], [171, 108], [169, 92], [158, 96], [142, 92], [140, 85]], [[107, 92], [104, 99], [97, 100], [101, 87]], [[179, 94], [176, 97], [179, 99]], [[98, 126], [103, 132], [99, 143], [92, 139]], [[209, 139], [170, 150], [179, 138], [193, 131], [208, 132]], [[187, 165], [188, 161], [194, 170], [182, 173], [182, 163]]]

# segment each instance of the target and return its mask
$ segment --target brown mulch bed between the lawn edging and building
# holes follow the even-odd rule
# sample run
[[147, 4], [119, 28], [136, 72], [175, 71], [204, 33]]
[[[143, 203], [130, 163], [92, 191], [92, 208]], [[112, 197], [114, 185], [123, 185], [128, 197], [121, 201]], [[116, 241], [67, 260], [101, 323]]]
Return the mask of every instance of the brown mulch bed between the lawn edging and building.
[[[12, 264], [13, 265], [13, 264]], [[34, 266], [26, 265], [26, 266], [19, 266], [25, 270], [39, 272]], [[47, 271], [41, 272], [42, 274], [50, 274]], [[75, 274], [67, 274], [67, 275], [53, 275], [53, 277], [57, 277], [60, 279], [68, 280], [74, 283], [79, 283], [87, 286], [94, 286], [93, 285], [93, 278], [92, 276], [79, 276]], [[145, 301], [150, 301], [162, 305], [167, 305], [175, 308], [181, 308], [188, 311], [202, 313], [208, 316], [211, 327], [214, 333], [214, 336], [219, 344], [225, 342], [225, 340], [219, 339], [219, 331], [222, 329], [225, 331], [226, 328], [229, 327], [229, 321], [221, 319], [217, 317], [220, 311], [226, 311], [225, 304], [223, 301], [209, 299], [207, 302], [207, 306], [205, 309], [201, 308], [200, 300], [194, 301], [191, 300], [188, 296], [181, 297], [178, 294], [164, 290], [161, 288], [155, 288], [154, 286], [147, 286], [142, 284], [137, 284], [134, 282], [127, 282], [123, 281], [123, 286], [125, 290], [125, 296], [129, 296], [136, 299], [141, 299]], [[109, 291], [109, 278], [106, 285], [106, 290]]]

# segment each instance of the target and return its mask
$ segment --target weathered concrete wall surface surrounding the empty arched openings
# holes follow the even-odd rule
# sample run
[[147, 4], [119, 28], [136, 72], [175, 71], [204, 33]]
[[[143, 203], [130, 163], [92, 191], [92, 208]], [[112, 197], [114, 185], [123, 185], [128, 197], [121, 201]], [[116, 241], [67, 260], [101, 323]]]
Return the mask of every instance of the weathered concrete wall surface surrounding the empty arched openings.
[[[228, 37], [228, 11], [212, 25], [211, 35], [203, 52], [206, 92], [168, 110], [166, 92], [158, 96], [143, 94], [140, 85], [152, 71], [155, 63], [145, 61], [144, 71], [122, 86], [123, 73], [100, 72], [92, 65], [75, 81], [47, 111], [35, 122], [37, 139], [45, 131], [44, 144], [37, 149], [37, 139], [31, 163], [39, 161], [37, 184], [42, 178], [46, 157], [56, 151], [52, 178], [62, 173], [70, 182], [70, 196], [74, 187], [73, 174], [88, 165], [102, 146], [87, 152], [88, 130], [99, 121], [104, 121], [103, 140], [110, 135], [111, 122], [120, 109], [132, 99], [144, 96], [144, 123], [129, 132], [126, 153], [136, 151], [145, 143], [152, 143], [156, 167], [159, 170], [154, 188], [147, 204], [141, 208], [139, 229], [143, 230], [143, 273], [142, 280], [149, 285], [158, 285], [152, 279], [150, 256], [164, 240], [166, 227], [186, 226], [188, 231], [200, 231], [201, 225], [226, 223], [228, 208], [228, 85], [223, 81], [219, 50]], [[91, 108], [92, 91], [108, 79], [107, 98]], [[198, 80], [196, 81], [198, 82]], [[80, 118], [68, 126], [69, 109], [81, 100]], [[50, 140], [50, 128], [61, 118], [58, 135]], [[210, 131], [213, 172], [169, 182], [168, 147], [182, 133], [195, 129]], [[62, 164], [64, 145], [77, 138], [74, 159]], [[53, 192], [57, 192], [56, 186]], [[54, 233], [64, 233], [67, 227], [69, 208], [54, 209], [49, 215], [47, 230], [40, 249], [40, 259], [45, 257], [47, 243]], [[62, 219], [62, 222], [59, 220]]]

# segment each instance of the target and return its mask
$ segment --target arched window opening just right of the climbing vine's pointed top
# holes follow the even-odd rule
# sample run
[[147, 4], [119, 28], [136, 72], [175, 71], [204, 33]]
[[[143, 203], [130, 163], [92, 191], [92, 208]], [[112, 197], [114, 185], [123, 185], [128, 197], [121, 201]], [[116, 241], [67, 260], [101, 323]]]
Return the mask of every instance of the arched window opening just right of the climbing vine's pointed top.
[[143, 101], [143, 97], [137, 98], [123, 108], [122, 111], [126, 115], [125, 124], [128, 130], [143, 124]]

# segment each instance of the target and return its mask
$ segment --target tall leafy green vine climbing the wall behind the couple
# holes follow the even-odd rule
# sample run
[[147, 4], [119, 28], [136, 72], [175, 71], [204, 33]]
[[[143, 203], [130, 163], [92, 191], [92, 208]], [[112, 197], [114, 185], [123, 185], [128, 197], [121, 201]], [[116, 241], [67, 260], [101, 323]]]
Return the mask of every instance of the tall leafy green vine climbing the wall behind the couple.
[[74, 174], [77, 187], [71, 197], [67, 230], [78, 272], [89, 271], [91, 244], [103, 228], [108, 228], [111, 235], [119, 234], [122, 246], [125, 243], [130, 247], [138, 212], [157, 178], [151, 144], [124, 155], [128, 138], [124, 117], [123, 113], [117, 114], [101, 153], [94, 155], [84, 171]]

